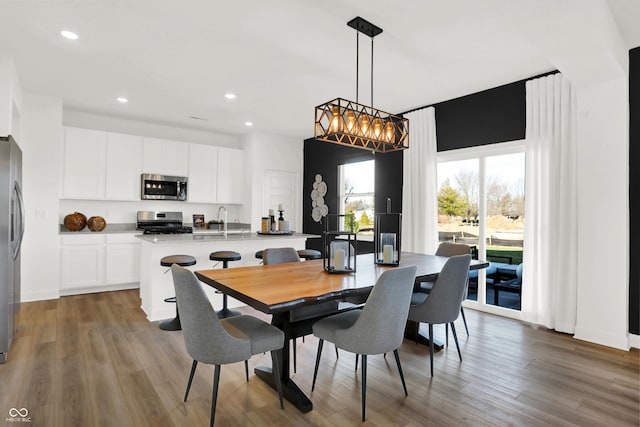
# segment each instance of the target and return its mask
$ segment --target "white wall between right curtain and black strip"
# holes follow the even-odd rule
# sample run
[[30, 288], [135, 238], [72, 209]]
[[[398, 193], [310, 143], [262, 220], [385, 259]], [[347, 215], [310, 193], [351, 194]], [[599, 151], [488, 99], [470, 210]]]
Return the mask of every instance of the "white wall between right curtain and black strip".
[[578, 89], [575, 337], [629, 348], [629, 91], [625, 77]]

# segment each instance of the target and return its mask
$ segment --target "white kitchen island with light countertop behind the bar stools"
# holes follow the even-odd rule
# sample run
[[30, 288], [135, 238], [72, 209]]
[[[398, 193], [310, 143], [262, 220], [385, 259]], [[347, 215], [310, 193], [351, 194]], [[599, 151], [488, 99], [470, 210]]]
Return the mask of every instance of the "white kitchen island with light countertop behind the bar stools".
[[[140, 251], [140, 300], [142, 310], [149, 321], [157, 321], [175, 316], [175, 304], [164, 302], [165, 298], [175, 295], [173, 278], [166, 267], [160, 265], [160, 259], [168, 255], [191, 255], [196, 265], [191, 270], [222, 268], [222, 263], [209, 260], [214, 251], [235, 251], [242, 259], [229, 263], [229, 268], [258, 265], [261, 260], [255, 258], [257, 251], [266, 248], [293, 247], [304, 249], [307, 238], [318, 237], [310, 234], [293, 233], [290, 235], [259, 235], [256, 233], [229, 233], [226, 237], [220, 233], [194, 234], [147, 234], [139, 235]], [[204, 287], [213, 307], [222, 308], [222, 295], [208, 286]], [[244, 305], [229, 298], [230, 308]]]

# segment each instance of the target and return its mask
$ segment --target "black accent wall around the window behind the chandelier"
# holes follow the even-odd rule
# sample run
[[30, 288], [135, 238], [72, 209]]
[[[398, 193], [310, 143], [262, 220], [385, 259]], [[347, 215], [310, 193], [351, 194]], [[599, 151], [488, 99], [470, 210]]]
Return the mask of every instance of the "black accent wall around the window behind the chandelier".
[[[309, 138], [304, 141], [304, 174], [302, 231], [308, 234], [322, 234], [322, 224], [311, 218], [311, 191], [316, 174], [322, 175], [327, 184], [325, 204], [329, 213], [338, 212], [338, 166], [346, 163], [375, 160], [375, 205], [377, 212], [385, 212], [387, 198], [391, 198], [393, 212], [402, 210], [402, 152], [377, 153], [368, 150], [331, 144]], [[321, 242], [308, 241], [307, 247], [320, 250]], [[364, 242], [358, 242], [358, 252], [372, 252]]]

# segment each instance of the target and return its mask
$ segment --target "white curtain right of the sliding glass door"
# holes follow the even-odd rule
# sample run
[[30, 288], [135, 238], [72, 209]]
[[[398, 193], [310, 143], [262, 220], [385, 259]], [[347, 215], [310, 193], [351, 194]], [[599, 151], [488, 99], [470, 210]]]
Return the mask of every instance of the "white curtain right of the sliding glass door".
[[561, 74], [526, 83], [523, 320], [573, 333], [577, 310], [576, 94]]

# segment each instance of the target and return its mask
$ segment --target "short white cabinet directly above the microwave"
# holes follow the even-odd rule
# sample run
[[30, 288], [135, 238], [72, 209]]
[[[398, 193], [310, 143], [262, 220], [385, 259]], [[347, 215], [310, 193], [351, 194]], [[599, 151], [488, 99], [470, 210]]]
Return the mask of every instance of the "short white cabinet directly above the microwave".
[[143, 173], [187, 176], [190, 144], [158, 138], [143, 141]]

